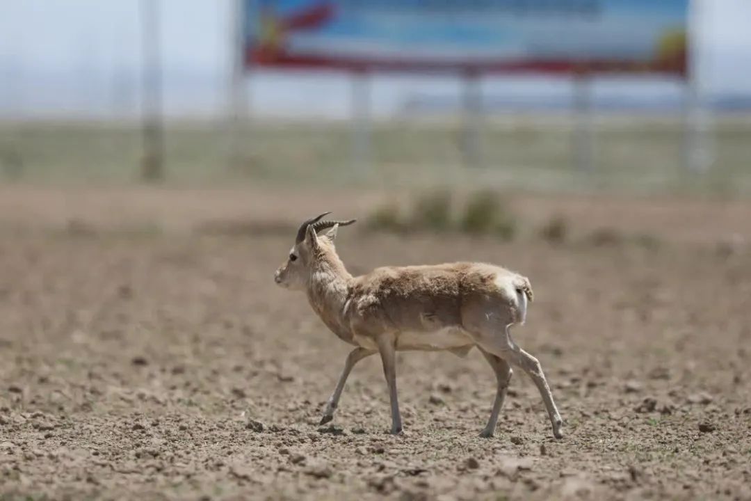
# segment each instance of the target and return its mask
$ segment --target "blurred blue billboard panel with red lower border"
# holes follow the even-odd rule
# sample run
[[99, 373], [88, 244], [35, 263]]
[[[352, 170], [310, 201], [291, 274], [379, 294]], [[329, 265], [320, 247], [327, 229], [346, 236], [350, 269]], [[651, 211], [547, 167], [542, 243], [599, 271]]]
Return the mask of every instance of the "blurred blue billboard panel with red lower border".
[[243, 0], [247, 66], [686, 74], [689, 0]]

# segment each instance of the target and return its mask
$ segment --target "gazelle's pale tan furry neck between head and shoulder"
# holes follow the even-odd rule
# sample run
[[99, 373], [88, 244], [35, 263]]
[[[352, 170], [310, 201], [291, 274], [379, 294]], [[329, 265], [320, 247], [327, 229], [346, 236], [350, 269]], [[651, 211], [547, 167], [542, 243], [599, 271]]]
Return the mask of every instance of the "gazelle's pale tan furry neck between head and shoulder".
[[342, 312], [351, 280], [352, 276], [333, 249], [327, 249], [310, 269], [306, 291], [310, 306], [340, 337], [344, 334], [342, 330], [346, 330]]

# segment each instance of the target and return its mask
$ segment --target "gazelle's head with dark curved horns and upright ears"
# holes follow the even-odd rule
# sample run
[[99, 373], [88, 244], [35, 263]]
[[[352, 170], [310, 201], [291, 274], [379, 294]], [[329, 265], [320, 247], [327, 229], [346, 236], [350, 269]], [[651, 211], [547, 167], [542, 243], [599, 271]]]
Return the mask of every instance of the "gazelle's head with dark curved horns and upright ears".
[[[327, 251], [333, 251], [333, 241], [339, 226], [351, 225], [355, 219], [349, 221], [321, 221], [323, 216], [308, 219], [300, 225], [294, 246], [282, 266], [274, 273], [277, 285], [294, 291], [305, 288], [312, 264], [321, 259]], [[318, 237], [318, 231], [331, 228], [323, 237]]]

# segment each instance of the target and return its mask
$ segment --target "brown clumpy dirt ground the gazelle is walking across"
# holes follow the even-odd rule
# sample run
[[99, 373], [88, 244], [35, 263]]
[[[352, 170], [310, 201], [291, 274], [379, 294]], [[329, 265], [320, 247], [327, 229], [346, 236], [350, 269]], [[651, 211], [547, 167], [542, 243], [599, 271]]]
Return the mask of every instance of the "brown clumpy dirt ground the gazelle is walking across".
[[517, 370], [482, 439], [476, 351], [399, 355], [401, 436], [375, 357], [318, 426], [348, 346], [274, 285], [282, 230], [371, 198], [104, 193], [2, 190], [0, 499], [751, 499], [749, 204], [520, 198], [530, 225], [569, 215], [557, 245], [342, 228], [353, 273], [481, 260], [532, 280], [514, 336], [565, 436]]

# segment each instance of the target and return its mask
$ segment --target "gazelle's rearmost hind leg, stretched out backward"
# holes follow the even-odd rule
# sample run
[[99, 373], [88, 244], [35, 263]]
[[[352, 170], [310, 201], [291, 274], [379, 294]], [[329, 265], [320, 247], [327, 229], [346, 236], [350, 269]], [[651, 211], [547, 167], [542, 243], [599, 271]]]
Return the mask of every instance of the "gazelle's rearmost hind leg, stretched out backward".
[[545, 409], [547, 409], [550, 424], [553, 425], [553, 436], [556, 439], [561, 439], [563, 438], [561, 433], [563, 420], [558, 412], [556, 403], [553, 401], [553, 394], [550, 393], [550, 386], [547, 385], [547, 379], [545, 379], [545, 375], [542, 372], [540, 362], [523, 349], [520, 349], [514, 343], [514, 340], [511, 340], [511, 333], [508, 331], [508, 327], [510, 325], [505, 326], [500, 333], [495, 329], [491, 329], [490, 326], [487, 329], [483, 328], [483, 332], [480, 333], [477, 343], [482, 349], [514, 364], [529, 375], [532, 382], [537, 386], [542, 401], [545, 404]]

